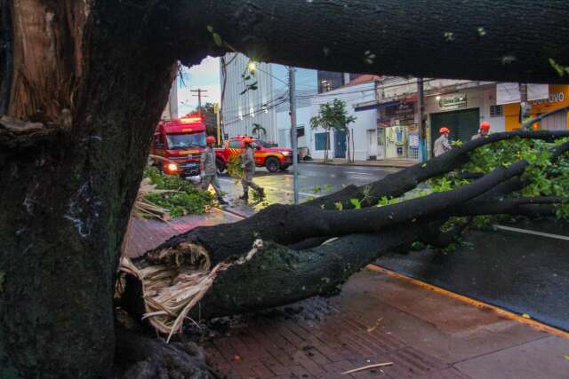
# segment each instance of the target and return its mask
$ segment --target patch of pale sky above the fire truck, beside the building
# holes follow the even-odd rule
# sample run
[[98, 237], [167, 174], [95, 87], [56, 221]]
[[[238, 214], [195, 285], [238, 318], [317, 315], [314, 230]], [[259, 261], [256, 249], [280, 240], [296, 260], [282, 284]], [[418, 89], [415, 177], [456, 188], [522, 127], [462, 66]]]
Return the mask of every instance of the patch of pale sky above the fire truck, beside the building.
[[199, 65], [182, 69], [183, 81], [178, 77], [178, 114], [188, 114], [197, 107], [196, 92], [201, 88], [206, 90], [202, 99], [202, 104], [207, 102], [219, 103], [221, 97], [220, 89], [220, 59], [207, 57]]

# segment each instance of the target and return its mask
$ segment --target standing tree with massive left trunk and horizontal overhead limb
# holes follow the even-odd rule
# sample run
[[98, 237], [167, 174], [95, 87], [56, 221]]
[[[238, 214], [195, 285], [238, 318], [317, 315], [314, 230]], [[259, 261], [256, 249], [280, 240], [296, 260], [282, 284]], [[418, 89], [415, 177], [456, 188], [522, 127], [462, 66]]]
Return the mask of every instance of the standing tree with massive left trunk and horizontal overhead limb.
[[569, 61], [558, 32], [569, 10], [553, 0], [1, 5], [0, 367], [15, 377], [112, 375], [119, 250], [177, 59], [191, 66], [235, 48], [300, 67], [523, 83], [563, 83], [550, 62]]

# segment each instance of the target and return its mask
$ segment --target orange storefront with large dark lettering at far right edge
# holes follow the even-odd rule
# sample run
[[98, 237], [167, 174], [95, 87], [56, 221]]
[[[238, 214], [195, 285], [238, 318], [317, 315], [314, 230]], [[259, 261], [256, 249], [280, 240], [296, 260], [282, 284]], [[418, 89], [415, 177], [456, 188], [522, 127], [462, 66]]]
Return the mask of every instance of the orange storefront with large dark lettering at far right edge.
[[[560, 107], [567, 107], [569, 106], [569, 85], [549, 84], [549, 97], [547, 99], [533, 100], [529, 103], [532, 106], [532, 116], [544, 114]], [[519, 102], [503, 105], [506, 130], [520, 128], [519, 111]], [[548, 117], [540, 122], [539, 128], [543, 130], [568, 129], [569, 114], [561, 113]]]

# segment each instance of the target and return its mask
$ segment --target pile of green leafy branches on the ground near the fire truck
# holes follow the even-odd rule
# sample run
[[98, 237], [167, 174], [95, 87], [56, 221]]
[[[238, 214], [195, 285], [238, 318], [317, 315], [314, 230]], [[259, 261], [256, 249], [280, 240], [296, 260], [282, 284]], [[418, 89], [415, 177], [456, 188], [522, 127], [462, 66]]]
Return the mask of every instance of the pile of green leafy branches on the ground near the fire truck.
[[213, 204], [211, 193], [201, 191], [192, 186], [188, 180], [175, 175], [164, 175], [156, 167], [144, 170], [144, 177], [150, 178], [156, 189], [172, 190], [172, 193], [150, 193], [147, 201], [170, 210], [172, 217], [180, 217], [189, 213], [204, 213]]

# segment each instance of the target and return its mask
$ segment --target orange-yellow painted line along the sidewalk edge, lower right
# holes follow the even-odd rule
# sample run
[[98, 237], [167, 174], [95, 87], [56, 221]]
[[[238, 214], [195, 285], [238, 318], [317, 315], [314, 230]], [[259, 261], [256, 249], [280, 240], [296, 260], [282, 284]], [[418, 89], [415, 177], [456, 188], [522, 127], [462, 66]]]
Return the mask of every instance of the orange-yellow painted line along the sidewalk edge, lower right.
[[455, 293], [455, 292], [451, 292], [451, 291], [449, 291], [449, 290], [446, 290], [446, 289], [444, 289], [444, 288], [440, 288], [440, 287], [437, 287], [437, 286], [433, 286], [433, 285], [431, 285], [431, 284], [429, 284], [429, 283], [425, 283], [424, 281], [416, 280], [416, 279], [410, 278], [410, 277], [405, 276], [404, 274], [401, 274], [401, 273], [399, 273], [399, 272], [394, 272], [394, 271], [388, 270], [388, 269], [386, 269], [386, 268], [383, 268], [383, 267], [381, 267], [380, 265], [370, 264], [370, 265], [367, 265], [366, 268], [367, 268], [368, 270], [370, 270], [370, 271], [373, 271], [373, 272], [381, 272], [381, 273], [383, 273], [383, 274], [385, 274], [385, 275], [388, 275], [388, 276], [390, 276], [390, 277], [392, 277], [392, 278], [397, 278], [397, 279], [400, 279], [400, 280], [405, 280], [405, 281], [410, 282], [410, 283], [413, 283], [414, 285], [419, 286], [419, 287], [421, 287], [421, 288], [426, 288], [426, 289], [428, 289], [428, 290], [430, 290], [430, 291], [436, 292], [437, 294], [441, 294], [441, 295], [444, 295], [444, 296], [451, 297], [451, 298], [456, 299], [456, 300], [459, 300], [459, 301], [461, 301], [461, 302], [464, 302], [464, 303], [467, 303], [467, 304], [470, 304], [470, 305], [474, 305], [474, 306], [476, 306], [476, 307], [478, 307], [478, 308], [495, 312], [495, 313], [497, 313], [497, 314], [499, 314], [499, 315], [501, 315], [501, 316], [503, 316], [503, 317], [505, 317], [505, 318], [508, 318], [509, 320], [515, 320], [515, 321], [517, 321], [517, 322], [519, 322], [519, 323], [521, 323], [521, 324], [528, 325], [528, 326], [530, 326], [530, 327], [532, 327], [532, 328], [535, 328], [535, 329], [537, 329], [537, 330], [541, 330], [541, 331], [543, 331], [543, 332], [547, 332], [547, 333], [549, 333], [549, 334], [551, 334], [551, 335], [561, 336], [561, 337], [564, 337], [564, 338], [569, 338], [569, 333], [565, 332], [564, 330], [561, 330], [561, 329], [558, 329], [558, 328], [555, 328], [555, 327], [550, 327], [549, 325], [543, 324], [543, 323], [541, 323], [540, 321], [537, 321], [537, 320], [526, 319], [524, 316], [519, 315], [519, 314], [516, 314], [516, 313], [514, 313], [514, 312], [509, 312], [509, 311], [506, 311], [506, 310], [504, 310], [504, 309], [501, 309], [501, 308], [499, 308], [499, 307], [497, 307], [497, 306], [495, 306], [495, 305], [486, 304], [486, 303], [483, 303], [483, 302], [478, 301], [478, 300], [476, 300], [476, 299], [470, 298], [470, 297], [468, 297], [468, 296], [463, 296], [463, 295], [457, 294], [457, 293]]

